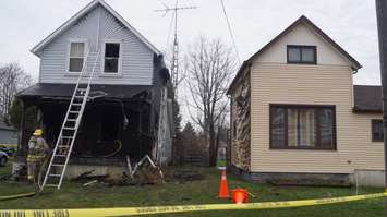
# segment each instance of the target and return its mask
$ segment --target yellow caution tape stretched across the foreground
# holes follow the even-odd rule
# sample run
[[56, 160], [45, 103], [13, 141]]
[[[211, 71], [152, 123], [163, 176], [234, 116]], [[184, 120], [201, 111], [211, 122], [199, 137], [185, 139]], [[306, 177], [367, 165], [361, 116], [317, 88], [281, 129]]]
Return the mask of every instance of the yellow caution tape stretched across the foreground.
[[148, 206], [148, 207], [128, 207], [128, 208], [81, 208], [81, 209], [14, 209], [0, 210], [0, 216], [23, 216], [23, 217], [113, 217], [113, 216], [135, 216], [145, 214], [170, 214], [198, 210], [230, 210], [230, 209], [268, 209], [268, 208], [289, 208], [299, 206], [314, 206], [323, 204], [335, 204], [353, 202], [387, 196], [386, 193], [341, 196], [335, 198], [285, 201], [285, 202], [263, 202], [249, 204], [206, 204], [206, 205], [183, 205], [183, 206]]

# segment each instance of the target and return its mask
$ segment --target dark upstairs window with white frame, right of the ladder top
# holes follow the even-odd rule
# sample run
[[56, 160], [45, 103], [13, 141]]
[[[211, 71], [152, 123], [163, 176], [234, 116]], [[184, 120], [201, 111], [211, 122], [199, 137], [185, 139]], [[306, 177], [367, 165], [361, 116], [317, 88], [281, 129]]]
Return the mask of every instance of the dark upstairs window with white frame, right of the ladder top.
[[105, 44], [104, 72], [119, 73], [120, 64], [120, 43]]

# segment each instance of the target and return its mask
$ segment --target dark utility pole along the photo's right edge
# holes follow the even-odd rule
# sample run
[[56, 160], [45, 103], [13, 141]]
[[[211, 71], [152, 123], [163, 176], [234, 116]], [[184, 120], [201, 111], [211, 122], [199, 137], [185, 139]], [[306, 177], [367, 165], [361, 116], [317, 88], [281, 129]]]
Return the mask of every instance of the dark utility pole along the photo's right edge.
[[[385, 152], [385, 191], [387, 189], [387, 1], [376, 0], [377, 29], [379, 35], [380, 79], [383, 89], [383, 125]], [[385, 197], [387, 217], [387, 197]]]

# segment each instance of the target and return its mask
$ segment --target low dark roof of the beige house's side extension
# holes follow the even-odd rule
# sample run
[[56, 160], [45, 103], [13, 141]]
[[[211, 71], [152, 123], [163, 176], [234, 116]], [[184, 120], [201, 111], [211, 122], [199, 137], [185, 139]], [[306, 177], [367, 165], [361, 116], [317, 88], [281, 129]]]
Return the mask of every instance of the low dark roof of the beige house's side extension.
[[382, 86], [354, 85], [353, 111], [355, 112], [382, 112]]

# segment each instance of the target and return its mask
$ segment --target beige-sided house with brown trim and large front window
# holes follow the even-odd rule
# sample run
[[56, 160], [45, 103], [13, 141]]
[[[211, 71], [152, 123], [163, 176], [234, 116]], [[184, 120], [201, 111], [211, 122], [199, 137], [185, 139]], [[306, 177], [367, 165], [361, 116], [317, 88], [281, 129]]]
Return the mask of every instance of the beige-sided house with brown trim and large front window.
[[382, 89], [305, 16], [244, 61], [229, 88], [231, 165], [263, 182], [383, 184]]

